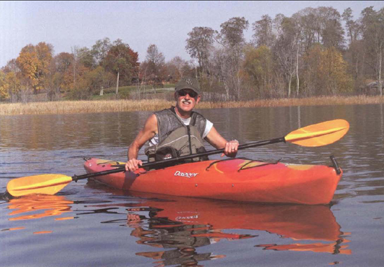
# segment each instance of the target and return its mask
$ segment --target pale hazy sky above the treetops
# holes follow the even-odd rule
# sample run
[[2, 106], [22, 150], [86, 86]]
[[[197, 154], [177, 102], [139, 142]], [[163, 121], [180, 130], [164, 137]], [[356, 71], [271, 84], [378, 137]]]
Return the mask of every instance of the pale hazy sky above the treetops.
[[250, 23], [246, 37], [252, 36], [253, 22], [262, 15], [332, 6], [342, 14], [353, 9], [355, 19], [369, 6], [384, 7], [383, 1], [0, 1], [0, 67], [15, 59], [29, 43], [44, 41], [60, 52], [71, 47], [92, 48], [108, 37], [120, 38], [145, 59], [148, 46], [155, 43], [166, 58], [189, 60], [185, 40], [193, 27], [211, 27], [231, 17], [246, 17]]

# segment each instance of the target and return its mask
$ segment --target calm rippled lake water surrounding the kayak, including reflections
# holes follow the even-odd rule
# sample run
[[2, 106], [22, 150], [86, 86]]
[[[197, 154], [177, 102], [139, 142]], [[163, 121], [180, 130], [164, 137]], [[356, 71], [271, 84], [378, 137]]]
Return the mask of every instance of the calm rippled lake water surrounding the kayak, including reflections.
[[[240, 143], [348, 120], [350, 131], [332, 145], [280, 143], [239, 152], [264, 161], [325, 165], [333, 154], [344, 175], [331, 205], [183, 199], [80, 180], [55, 196], [1, 199], [0, 266], [384, 265], [383, 104], [199, 112]], [[148, 115], [1, 116], [0, 193], [13, 178], [84, 174], [83, 157], [125, 161]], [[140, 157], [145, 159], [143, 151]]]

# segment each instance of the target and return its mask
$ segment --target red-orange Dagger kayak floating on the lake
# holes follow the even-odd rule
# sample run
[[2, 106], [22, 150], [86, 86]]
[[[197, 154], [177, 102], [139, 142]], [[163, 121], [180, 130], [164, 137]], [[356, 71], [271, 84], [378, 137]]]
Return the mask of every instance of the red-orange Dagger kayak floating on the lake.
[[[88, 159], [87, 173], [119, 164]], [[120, 163], [124, 164], [124, 163]], [[113, 173], [92, 178], [115, 189], [259, 203], [328, 204], [343, 172], [330, 166], [266, 163], [250, 159], [198, 161], [157, 170]]]

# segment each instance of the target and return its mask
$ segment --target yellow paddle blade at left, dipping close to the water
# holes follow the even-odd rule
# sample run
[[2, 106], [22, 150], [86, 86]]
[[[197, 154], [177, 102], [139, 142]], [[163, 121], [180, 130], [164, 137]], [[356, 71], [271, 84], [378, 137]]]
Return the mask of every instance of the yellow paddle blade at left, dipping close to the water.
[[7, 185], [7, 191], [12, 196], [26, 196], [30, 194], [53, 195], [71, 181], [71, 177], [62, 174], [32, 175], [10, 180]]

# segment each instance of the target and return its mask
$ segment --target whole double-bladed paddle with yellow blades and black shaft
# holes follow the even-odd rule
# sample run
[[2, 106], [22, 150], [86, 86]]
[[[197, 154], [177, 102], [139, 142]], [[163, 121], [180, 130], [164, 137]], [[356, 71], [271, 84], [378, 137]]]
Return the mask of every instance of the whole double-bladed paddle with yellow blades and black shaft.
[[[349, 123], [346, 120], [331, 120], [327, 122], [321, 122], [319, 124], [309, 125], [292, 131], [287, 136], [263, 140], [254, 143], [248, 143], [239, 145], [239, 150], [249, 147], [259, 147], [262, 145], [269, 145], [274, 143], [294, 143], [304, 147], [320, 147], [322, 145], [329, 145], [340, 138], [342, 138], [349, 130]], [[150, 167], [161, 164], [171, 164], [185, 159], [193, 159], [196, 157], [209, 156], [211, 154], [220, 154], [224, 152], [224, 149], [211, 150], [207, 152], [190, 154], [183, 157], [177, 157], [173, 159], [166, 159], [163, 161], [148, 162], [143, 164], [144, 167]], [[87, 179], [101, 175], [107, 175], [111, 173], [120, 173], [125, 171], [125, 167], [117, 167], [108, 171], [101, 171], [99, 173], [88, 173], [84, 175], [74, 175], [73, 177], [62, 174], [42, 174], [33, 175], [22, 178], [16, 178], [10, 180], [7, 185], [7, 191], [12, 196], [25, 196], [29, 194], [56, 194], [63, 189], [69, 182], [73, 180]]]

